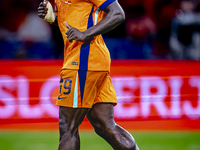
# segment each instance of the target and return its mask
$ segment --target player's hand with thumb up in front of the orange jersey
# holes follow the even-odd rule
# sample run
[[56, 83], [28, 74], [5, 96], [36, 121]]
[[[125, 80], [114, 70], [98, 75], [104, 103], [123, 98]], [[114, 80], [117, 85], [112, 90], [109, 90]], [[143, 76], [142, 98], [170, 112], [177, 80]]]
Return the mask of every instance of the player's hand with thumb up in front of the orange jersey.
[[84, 32], [81, 32], [78, 29], [71, 27], [67, 22], [65, 22], [65, 26], [68, 28], [65, 34], [67, 35], [69, 42], [72, 42], [73, 40], [85, 41], [87, 39]]

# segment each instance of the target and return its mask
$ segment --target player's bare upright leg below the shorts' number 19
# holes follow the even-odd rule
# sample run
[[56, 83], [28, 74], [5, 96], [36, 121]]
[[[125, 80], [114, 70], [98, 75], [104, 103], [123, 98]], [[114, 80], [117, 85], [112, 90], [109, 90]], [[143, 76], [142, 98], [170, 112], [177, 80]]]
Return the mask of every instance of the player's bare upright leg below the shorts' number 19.
[[58, 150], [80, 150], [78, 127], [88, 109], [59, 108], [60, 142]]

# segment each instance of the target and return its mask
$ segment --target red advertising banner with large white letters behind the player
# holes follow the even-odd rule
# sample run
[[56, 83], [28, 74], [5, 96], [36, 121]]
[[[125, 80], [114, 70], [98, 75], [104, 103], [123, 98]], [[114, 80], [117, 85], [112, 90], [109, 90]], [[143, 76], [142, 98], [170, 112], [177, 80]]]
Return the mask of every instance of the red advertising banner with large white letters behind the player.
[[[0, 129], [58, 129], [62, 61], [0, 62]], [[200, 62], [114, 60], [115, 120], [133, 130], [200, 130]], [[91, 129], [87, 119], [82, 129]]]

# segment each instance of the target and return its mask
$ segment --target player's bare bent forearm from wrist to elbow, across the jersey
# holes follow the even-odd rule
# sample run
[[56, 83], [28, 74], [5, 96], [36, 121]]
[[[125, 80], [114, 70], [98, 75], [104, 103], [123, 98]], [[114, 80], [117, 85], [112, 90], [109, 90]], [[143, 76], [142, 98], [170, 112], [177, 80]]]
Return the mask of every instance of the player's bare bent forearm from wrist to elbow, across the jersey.
[[109, 6], [109, 9], [106, 10], [107, 16], [104, 19], [102, 19], [97, 25], [85, 31], [87, 39], [93, 38], [99, 34], [106, 33], [125, 20], [125, 14], [122, 8], [119, 7], [118, 3], [117, 8], [116, 4], [113, 5], [114, 6]]

